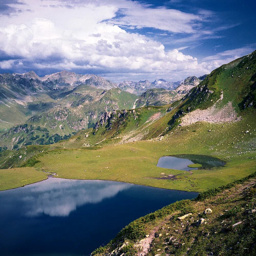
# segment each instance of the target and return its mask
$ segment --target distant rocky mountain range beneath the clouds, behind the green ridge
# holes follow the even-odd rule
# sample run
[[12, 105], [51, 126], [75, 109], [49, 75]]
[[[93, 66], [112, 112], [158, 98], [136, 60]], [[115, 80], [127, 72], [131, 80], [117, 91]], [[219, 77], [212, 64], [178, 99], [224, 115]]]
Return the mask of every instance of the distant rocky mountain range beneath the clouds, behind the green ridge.
[[0, 74], [0, 146], [51, 144], [93, 127], [106, 111], [172, 103], [200, 81], [188, 77], [175, 83], [157, 79], [117, 85], [93, 74], [69, 71], [44, 77], [34, 71]]

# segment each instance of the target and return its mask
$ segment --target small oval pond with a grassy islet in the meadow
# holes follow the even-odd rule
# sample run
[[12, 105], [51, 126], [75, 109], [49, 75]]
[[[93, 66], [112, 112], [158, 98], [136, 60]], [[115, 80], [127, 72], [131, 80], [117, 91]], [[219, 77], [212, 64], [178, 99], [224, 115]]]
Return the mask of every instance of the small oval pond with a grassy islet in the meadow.
[[[201, 164], [202, 167], [190, 168], [190, 164]], [[169, 168], [175, 170], [195, 170], [212, 167], [224, 166], [226, 162], [211, 156], [204, 155], [175, 155], [160, 157], [157, 163], [158, 167]]]

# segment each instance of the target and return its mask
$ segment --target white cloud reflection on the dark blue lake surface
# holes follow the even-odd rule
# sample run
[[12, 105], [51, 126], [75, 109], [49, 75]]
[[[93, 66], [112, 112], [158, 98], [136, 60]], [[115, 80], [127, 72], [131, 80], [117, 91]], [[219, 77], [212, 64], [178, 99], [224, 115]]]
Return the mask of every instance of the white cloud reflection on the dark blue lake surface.
[[50, 178], [46, 182], [27, 187], [29, 191], [26, 192], [26, 196], [21, 196], [21, 200], [25, 203], [25, 215], [28, 217], [41, 214], [66, 217], [79, 206], [99, 203], [131, 186], [126, 183], [109, 183], [100, 180]]

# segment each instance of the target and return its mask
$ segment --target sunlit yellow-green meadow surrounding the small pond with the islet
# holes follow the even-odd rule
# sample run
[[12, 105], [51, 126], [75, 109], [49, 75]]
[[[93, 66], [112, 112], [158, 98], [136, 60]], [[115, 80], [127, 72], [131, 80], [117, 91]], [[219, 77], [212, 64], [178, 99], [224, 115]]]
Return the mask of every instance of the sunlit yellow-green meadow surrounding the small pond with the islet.
[[[256, 170], [254, 119], [244, 116], [236, 125], [197, 123], [191, 127], [179, 127], [162, 141], [138, 141], [105, 146], [98, 150], [54, 149], [36, 155], [34, 161], [40, 162], [34, 167], [55, 172], [60, 178], [115, 180], [201, 192], [245, 177]], [[194, 129], [197, 132], [193, 132]], [[252, 131], [251, 134], [244, 134], [247, 129]], [[195, 141], [201, 144], [200, 147]], [[214, 156], [225, 160], [227, 164], [207, 170], [196, 169], [192, 174], [156, 166], [162, 156], [188, 152]], [[177, 179], [154, 179], [161, 177], [161, 173], [177, 175]]]

